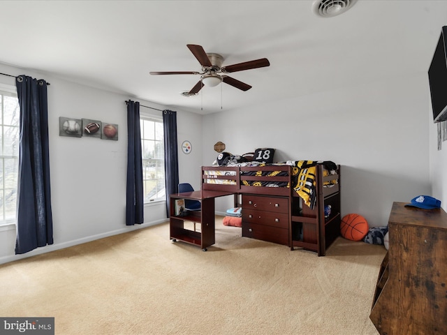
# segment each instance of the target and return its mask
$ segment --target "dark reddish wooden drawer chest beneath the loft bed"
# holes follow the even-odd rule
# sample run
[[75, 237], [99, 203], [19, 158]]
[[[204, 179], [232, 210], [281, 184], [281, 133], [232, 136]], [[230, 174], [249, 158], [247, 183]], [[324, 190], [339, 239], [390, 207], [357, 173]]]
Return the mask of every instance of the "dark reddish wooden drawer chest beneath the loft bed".
[[289, 198], [242, 194], [242, 236], [289, 245]]

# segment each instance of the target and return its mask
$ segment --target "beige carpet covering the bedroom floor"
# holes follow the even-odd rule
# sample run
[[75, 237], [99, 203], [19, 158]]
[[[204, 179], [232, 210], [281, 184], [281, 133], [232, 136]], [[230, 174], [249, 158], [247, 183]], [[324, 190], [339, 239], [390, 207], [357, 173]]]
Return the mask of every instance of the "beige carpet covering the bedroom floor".
[[383, 246], [339, 237], [325, 257], [240, 237], [217, 218], [201, 251], [169, 225], [0, 266], [0, 315], [54, 317], [55, 334], [378, 334]]

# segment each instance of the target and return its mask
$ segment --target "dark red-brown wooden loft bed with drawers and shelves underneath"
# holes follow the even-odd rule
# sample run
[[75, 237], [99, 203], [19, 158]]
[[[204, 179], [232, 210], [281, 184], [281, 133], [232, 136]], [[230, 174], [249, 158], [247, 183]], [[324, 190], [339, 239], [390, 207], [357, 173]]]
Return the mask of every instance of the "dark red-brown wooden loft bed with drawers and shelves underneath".
[[[304, 248], [325, 255], [339, 236], [340, 167], [323, 163], [299, 169], [292, 165], [202, 167], [203, 191], [242, 195], [242, 236]], [[309, 174], [304, 170], [312, 169]], [[310, 178], [309, 176], [312, 176]], [[313, 181], [308, 197], [298, 181]], [[237, 197], [238, 198], [238, 197]], [[330, 214], [325, 217], [325, 207]]]

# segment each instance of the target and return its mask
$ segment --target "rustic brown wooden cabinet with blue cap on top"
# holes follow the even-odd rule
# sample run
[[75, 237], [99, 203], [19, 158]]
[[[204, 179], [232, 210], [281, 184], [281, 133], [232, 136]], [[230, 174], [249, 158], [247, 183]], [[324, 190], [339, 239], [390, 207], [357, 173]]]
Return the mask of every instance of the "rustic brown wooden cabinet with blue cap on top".
[[369, 318], [382, 335], [447, 334], [447, 214], [394, 202]]

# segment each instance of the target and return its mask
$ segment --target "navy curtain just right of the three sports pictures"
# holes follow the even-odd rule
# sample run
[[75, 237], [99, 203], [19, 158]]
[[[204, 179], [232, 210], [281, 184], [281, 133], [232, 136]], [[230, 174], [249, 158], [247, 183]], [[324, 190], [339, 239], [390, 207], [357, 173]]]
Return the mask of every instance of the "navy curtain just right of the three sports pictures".
[[140, 133], [140, 103], [127, 103], [127, 191], [126, 225], [143, 223], [142, 156]]

